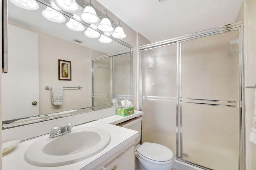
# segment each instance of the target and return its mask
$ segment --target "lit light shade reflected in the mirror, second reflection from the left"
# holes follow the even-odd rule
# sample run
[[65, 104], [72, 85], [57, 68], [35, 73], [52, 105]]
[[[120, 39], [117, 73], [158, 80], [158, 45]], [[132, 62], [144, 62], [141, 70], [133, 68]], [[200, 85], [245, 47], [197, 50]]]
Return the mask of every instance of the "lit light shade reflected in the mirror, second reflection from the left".
[[42, 15], [44, 16], [44, 18], [52, 22], [62, 23], [66, 21], [66, 18], [60, 12], [50, 7], [47, 7], [45, 10], [43, 10]]

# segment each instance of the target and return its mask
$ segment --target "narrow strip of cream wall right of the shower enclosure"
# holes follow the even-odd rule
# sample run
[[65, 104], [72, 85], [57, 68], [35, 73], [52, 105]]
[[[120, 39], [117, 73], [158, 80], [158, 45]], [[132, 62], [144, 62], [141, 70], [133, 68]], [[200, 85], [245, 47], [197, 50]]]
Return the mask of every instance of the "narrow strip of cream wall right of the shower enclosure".
[[[256, 84], [256, 1], [245, 0], [245, 86]], [[245, 89], [246, 170], [256, 170], [256, 144], [248, 141], [254, 115], [254, 89]]]

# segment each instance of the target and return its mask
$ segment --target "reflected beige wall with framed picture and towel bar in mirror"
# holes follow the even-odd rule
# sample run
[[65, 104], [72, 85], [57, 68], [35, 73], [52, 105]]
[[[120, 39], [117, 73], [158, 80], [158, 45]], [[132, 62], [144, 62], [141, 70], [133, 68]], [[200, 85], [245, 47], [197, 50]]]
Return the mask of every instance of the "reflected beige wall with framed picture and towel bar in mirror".
[[[72, 80], [58, 80], [58, 59], [71, 61]], [[54, 113], [91, 106], [90, 49], [39, 33], [39, 101], [40, 114]], [[83, 87], [63, 91], [62, 105], [51, 103], [51, 90], [45, 87]]]

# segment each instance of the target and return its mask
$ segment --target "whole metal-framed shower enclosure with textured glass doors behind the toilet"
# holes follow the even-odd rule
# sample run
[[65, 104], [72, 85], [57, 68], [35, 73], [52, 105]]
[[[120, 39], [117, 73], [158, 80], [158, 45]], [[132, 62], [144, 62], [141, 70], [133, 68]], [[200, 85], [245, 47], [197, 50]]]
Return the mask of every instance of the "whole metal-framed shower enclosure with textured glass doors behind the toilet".
[[241, 23], [140, 47], [142, 142], [177, 160], [242, 170]]

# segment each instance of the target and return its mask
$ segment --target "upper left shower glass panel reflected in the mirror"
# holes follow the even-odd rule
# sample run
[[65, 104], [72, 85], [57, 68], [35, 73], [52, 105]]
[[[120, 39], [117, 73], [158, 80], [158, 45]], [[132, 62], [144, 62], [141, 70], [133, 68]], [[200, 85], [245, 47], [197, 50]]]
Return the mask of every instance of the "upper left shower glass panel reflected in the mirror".
[[93, 62], [93, 93], [110, 94], [110, 58]]

